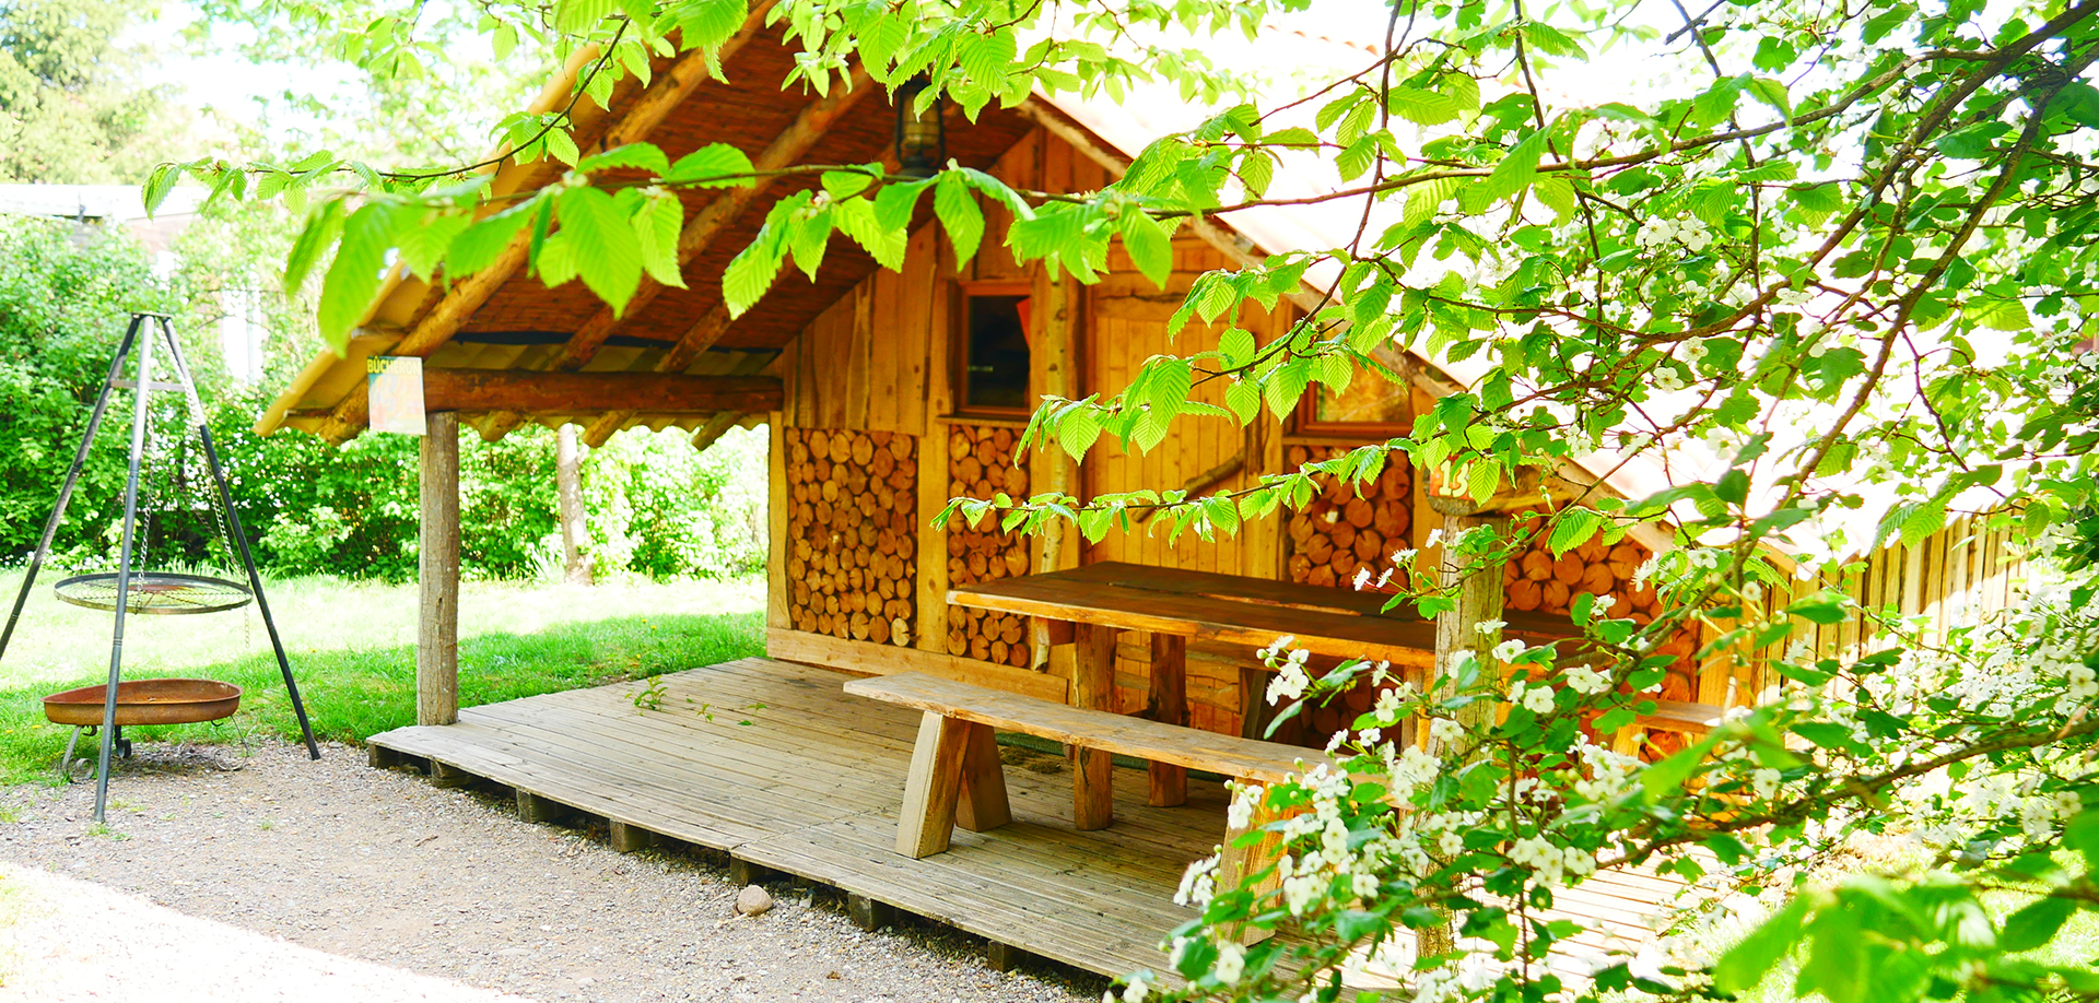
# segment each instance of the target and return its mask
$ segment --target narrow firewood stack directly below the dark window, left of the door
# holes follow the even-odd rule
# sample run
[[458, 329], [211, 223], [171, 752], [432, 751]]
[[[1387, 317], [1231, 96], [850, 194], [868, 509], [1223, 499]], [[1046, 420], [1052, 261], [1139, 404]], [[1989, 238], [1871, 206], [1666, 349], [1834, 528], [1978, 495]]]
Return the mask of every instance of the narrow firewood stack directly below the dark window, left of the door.
[[[1026, 497], [1026, 451], [1018, 451], [1020, 464], [1014, 464], [1018, 439], [1012, 428], [1003, 426], [951, 426], [947, 434], [949, 497], [991, 499], [999, 491], [1010, 497]], [[1029, 539], [1020, 533], [1001, 533], [997, 514], [984, 514], [974, 527], [963, 522], [959, 512], [949, 516], [949, 583], [972, 585], [1029, 571]], [[1012, 613], [951, 604], [947, 609], [947, 650], [949, 655], [1026, 667], [1033, 657], [1029, 621]]]

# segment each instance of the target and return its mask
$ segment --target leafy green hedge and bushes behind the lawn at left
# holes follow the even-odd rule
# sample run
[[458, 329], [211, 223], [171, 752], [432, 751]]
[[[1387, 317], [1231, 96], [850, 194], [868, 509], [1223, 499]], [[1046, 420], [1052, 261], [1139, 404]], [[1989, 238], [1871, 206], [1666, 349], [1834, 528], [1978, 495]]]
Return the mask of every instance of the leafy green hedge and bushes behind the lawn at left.
[[[227, 376], [214, 338], [218, 294], [248, 287], [248, 275], [262, 273], [243, 269], [273, 250], [269, 220], [243, 218], [256, 214], [231, 206], [187, 231], [168, 275], [155, 275], [122, 233], [0, 218], [0, 260], [8, 262], [0, 271], [0, 428], [10, 439], [0, 449], [0, 560], [19, 564], [36, 548], [128, 311], [164, 311], [176, 317], [204, 384], [256, 558], [279, 575], [414, 577], [416, 439], [367, 434], [332, 449], [304, 434], [258, 439], [248, 430], [290, 376], [283, 369], [319, 346], [298, 336], [296, 304], [264, 308], [258, 319], [273, 327], [271, 371], [256, 384]], [[52, 546], [61, 567], [115, 558], [126, 418], [126, 401], [118, 399]], [[586, 455], [588, 550], [598, 575], [758, 571], [766, 495], [764, 464], [754, 457], [764, 449], [762, 430], [730, 430], [707, 453], [667, 430], [623, 432]], [[483, 579], [558, 577], [554, 432], [529, 426], [500, 443], [466, 434], [460, 466], [462, 571]], [[153, 554], [164, 562], [210, 562], [197, 518], [164, 514], [155, 527]]]

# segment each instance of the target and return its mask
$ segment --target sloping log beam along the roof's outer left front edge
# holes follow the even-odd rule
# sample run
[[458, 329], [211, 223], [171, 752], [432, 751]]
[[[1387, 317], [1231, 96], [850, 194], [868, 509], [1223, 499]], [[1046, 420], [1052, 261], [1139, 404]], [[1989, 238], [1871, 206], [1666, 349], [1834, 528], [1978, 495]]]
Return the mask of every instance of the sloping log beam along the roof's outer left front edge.
[[[626, 115], [611, 122], [605, 134], [594, 141], [596, 147], [623, 147], [628, 143], [640, 143], [655, 132], [672, 109], [693, 97], [693, 90], [699, 88], [699, 84], [714, 78], [714, 63], [728, 61], [728, 57], [737, 55], [737, 50], [743, 48], [751, 36], [764, 29], [766, 13], [775, 2], [777, 0], [758, 0], [751, 4], [751, 13], [743, 19], [743, 27], [739, 27], [737, 34], [722, 42], [722, 46], [712, 55], [695, 48], [678, 57], [670, 69], [649, 82], [640, 99], [634, 101], [634, 107], [628, 109]], [[504, 191], [535, 189], [548, 180], [552, 168], [552, 159], [542, 159], [518, 174], [518, 180], [508, 185]], [[416, 321], [416, 327], [411, 327], [399, 344], [388, 348], [388, 355], [428, 357], [439, 346], [449, 342], [451, 336], [460, 334], [460, 327], [464, 327], [466, 321], [472, 319], [472, 315], [481, 311], [491, 296], [495, 296], [495, 290], [510, 281], [521, 266], [525, 266], [529, 246], [531, 233], [518, 231], [510, 246], [504, 248], [504, 252], [487, 269], [468, 275], [458, 285], [447, 290], [445, 298], [439, 300], [437, 306], [432, 306], [420, 321]], [[365, 392], [365, 384], [355, 384], [351, 388], [351, 392], [334, 407], [327, 422], [319, 428], [321, 439], [340, 445], [369, 424], [372, 401]]]

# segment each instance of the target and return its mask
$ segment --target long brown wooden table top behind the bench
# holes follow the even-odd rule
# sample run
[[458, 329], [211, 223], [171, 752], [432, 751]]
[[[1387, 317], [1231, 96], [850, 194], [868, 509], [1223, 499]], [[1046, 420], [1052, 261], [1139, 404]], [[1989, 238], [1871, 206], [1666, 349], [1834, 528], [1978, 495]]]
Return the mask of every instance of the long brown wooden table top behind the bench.
[[[1436, 663], [1436, 623], [1402, 604], [1383, 613], [1390, 596], [1291, 581], [1217, 575], [1102, 560], [1070, 571], [1022, 575], [949, 590], [959, 606], [1024, 617], [1096, 623], [1117, 629], [1178, 634], [1194, 640], [1261, 648], [1280, 636], [1314, 655], [1366, 657], [1400, 667]], [[1532, 644], [1572, 634], [1570, 623], [1511, 619], [1507, 636]]]

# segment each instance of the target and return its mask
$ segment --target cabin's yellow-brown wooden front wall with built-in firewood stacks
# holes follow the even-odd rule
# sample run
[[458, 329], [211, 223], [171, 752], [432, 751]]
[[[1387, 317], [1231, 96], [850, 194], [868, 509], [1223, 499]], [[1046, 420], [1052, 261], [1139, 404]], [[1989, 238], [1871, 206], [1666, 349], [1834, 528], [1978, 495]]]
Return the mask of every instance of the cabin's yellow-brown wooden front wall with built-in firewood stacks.
[[[1091, 191], [1108, 183], [1100, 166], [1039, 130], [1012, 147], [993, 174], [1037, 191]], [[1352, 575], [1343, 571], [1366, 567], [1377, 575], [1396, 550], [1417, 548], [1421, 567], [1438, 564], [1436, 550], [1423, 543], [1442, 518], [1425, 504], [1427, 478], [1408, 468], [1394, 468], [1362, 497], [1329, 489], [1303, 512], [1282, 510], [1220, 541], [1192, 533], [1167, 539], [1163, 531], [1148, 533], [1144, 527], [1081, 543], [1077, 533], [1043, 541], [997, 533], [995, 527], [961, 527], [959, 520], [928, 525], [953, 495], [1062, 489], [1091, 497], [1140, 487], [1207, 493], [1245, 487], [1261, 472], [1383, 439], [1369, 432], [1295, 434], [1266, 413], [1247, 430], [1230, 420], [1192, 418], [1173, 441], [1150, 453], [1125, 453], [1102, 439], [1083, 468], [1073, 468], [1060, 451], [1018, 445], [1024, 415], [957, 415], [951, 327], [959, 321], [953, 313], [961, 294], [972, 285], [1033, 290], [1031, 392], [1115, 392], [1150, 355], [1215, 348], [1224, 332], [1224, 325], [1190, 323], [1167, 336], [1167, 321], [1194, 277], [1230, 266], [1199, 239], [1175, 239], [1173, 275], [1163, 290], [1129, 264], [1121, 246], [1110, 252], [1106, 275], [1096, 285], [1079, 287], [1016, 264], [1003, 246], [1010, 220], [997, 206], [984, 206], [984, 216], [982, 246], [961, 269], [938, 227], [924, 225], [909, 241], [903, 273], [869, 275], [804, 327], [775, 363], [785, 384], [783, 409], [772, 415], [772, 543], [775, 554], [785, 556], [770, 562], [768, 648], [775, 655], [861, 671], [934, 671], [1066, 699], [1068, 648], [1047, 648], [1016, 619], [949, 606], [949, 583], [1129, 560], [1316, 583], [1327, 583], [1331, 575], [1335, 588], [1348, 588]], [[1268, 344], [1293, 319], [1289, 306], [1274, 313], [1249, 308], [1236, 323]], [[1203, 384], [1194, 399], [1222, 405], [1222, 390], [1217, 382]], [[1429, 405], [1425, 394], [1415, 392], [1415, 413]], [[844, 443], [846, 460], [833, 455], [831, 468], [819, 470], [812, 449], [819, 439], [825, 455]], [[865, 464], [856, 462], [856, 449], [867, 453]], [[804, 453], [810, 460], [804, 462]], [[890, 455], [886, 474], [873, 470], [877, 453]], [[825, 499], [827, 491], [838, 497]], [[821, 518], [819, 501], [831, 506], [829, 518]], [[865, 539], [869, 535], [871, 541]], [[1318, 556], [1324, 560], [1314, 560]], [[1631, 581], [1631, 571], [1648, 556], [1648, 548], [1631, 541], [1587, 546], [1564, 558], [1524, 554], [1505, 573], [1507, 604], [1564, 613], [1574, 594], [1597, 592], [1614, 596], [1625, 611], [1648, 615], [1652, 592]], [[1866, 571], [1845, 585], [1872, 609], [1958, 625], [2002, 609], [2017, 571], [2007, 533], [1984, 533], [1960, 520], [1914, 548], [1877, 552]], [[1769, 602], [1784, 604], [1803, 592], [1778, 588]], [[886, 638], [877, 619], [886, 623]], [[1818, 627], [1811, 644], [1832, 657], [1862, 650], [1856, 623]], [[1746, 703], [1772, 682], [1755, 667], [1757, 659], [1746, 669], [1730, 669], [1723, 659], [1700, 669], [1692, 663], [1690, 638], [1673, 646], [1685, 650], [1673, 650], [1681, 663], [1667, 682], [1669, 699]], [[1144, 638], [1127, 636], [1117, 646], [1117, 697], [1125, 711], [1148, 703], [1148, 657]], [[1249, 661], [1245, 650], [1190, 646], [1190, 724], [1238, 730], [1238, 669]], [[1345, 707], [1369, 703], [1369, 692], [1356, 697], [1362, 699]], [[1341, 711], [1329, 718], [1312, 724], [1337, 726]]]

